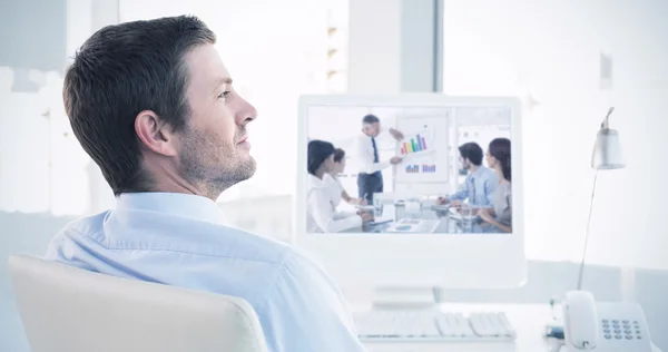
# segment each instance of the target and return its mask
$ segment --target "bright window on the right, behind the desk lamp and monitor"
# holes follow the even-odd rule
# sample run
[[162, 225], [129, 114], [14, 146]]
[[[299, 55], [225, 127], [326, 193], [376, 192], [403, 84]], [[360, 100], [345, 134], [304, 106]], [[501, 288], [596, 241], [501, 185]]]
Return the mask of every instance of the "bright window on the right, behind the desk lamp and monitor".
[[[609, 106], [626, 169], [599, 174], [588, 261], [656, 266], [668, 194], [654, 175], [666, 141], [665, 1], [444, 1], [443, 89], [520, 96], [527, 255], [579, 261], [598, 126]], [[661, 127], [662, 126], [662, 127]], [[642, 229], [642, 232], [639, 232]]]

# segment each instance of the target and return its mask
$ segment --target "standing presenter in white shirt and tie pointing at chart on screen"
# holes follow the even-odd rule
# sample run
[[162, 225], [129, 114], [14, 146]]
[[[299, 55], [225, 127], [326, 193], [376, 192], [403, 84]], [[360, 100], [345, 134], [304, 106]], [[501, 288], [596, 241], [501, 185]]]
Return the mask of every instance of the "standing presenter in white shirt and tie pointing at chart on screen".
[[[383, 131], [381, 119], [375, 115], [369, 114], [362, 118], [362, 134], [356, 140], [356, 156], [362, 165], [357, 174], [357, 195], [369, 204], [373, 202], [374, 193], [383, 192], [382, 170], [402, 160], [401, 157], [393, 156], [390, 160], [381, 162], [376, 145], [376, 137], [381, 131]], [[396, 140], [403, 139], [402, 133], [394, 128], [390, 128], [389, 133]]]

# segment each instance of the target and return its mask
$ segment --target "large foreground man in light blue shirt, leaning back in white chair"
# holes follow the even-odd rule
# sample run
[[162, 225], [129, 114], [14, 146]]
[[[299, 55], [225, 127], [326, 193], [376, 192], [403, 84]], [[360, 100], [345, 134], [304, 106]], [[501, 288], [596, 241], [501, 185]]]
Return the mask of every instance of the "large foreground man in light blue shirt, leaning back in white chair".
[[255, 173], [246, 127], [257, 113], [215, 42], [197, 18], [173, 17], [105, 27], [84, 43], [65, 106], [118, 202], [68, 224], [46, 257], [245, 299], [273, 352], [363, 351], [320, 265], [225, 225], [216, 199]]

